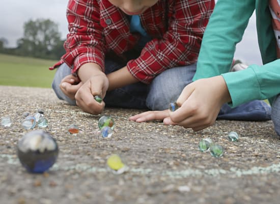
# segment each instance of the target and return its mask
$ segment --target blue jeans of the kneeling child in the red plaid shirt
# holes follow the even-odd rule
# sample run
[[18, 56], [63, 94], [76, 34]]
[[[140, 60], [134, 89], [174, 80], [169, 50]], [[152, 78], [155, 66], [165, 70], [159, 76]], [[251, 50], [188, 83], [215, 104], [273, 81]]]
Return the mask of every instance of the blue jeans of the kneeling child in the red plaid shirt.
[[[126, 63], [106, 59], [105, 73], [116, 71], [125, 65]], [[108, 91], [104, 98], [105, 104], [107, 107], [119, 108], [168, 109], [170, 102], [176, 101], [183, 88], [192, 82], [196, 67], [197, 64], [192, 64], [167, 69], [157, 75], [150, 85], [138, 82]], [[76, 105], [75, 100], [68, 98], [59, 87], [61, 80], [70, 73], [70, 68], [66, 64], [62, 64], [54, 75], [52, 88], [60, 99], [71, 105]], [[228, 104], [225, 104], [217, 117], [217, 119], [251, 121], [265, 121], [270, 120], [270, 118], [271, 108], [262, 100], [253, 100], [236, 108], [231, 108]]]

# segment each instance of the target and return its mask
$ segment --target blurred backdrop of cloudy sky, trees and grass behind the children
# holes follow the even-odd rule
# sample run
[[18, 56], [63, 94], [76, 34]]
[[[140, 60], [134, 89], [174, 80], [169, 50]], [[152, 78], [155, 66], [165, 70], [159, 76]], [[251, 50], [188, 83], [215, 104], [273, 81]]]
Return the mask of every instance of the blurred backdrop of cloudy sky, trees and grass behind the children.
[[[50, 87], [54, 71], [48, 67], [64, 54], [68, 0], [1, 2], [0, 85]], [[246, 64], [262, 64], [255, 14], [237, 45], [235, 59]]]

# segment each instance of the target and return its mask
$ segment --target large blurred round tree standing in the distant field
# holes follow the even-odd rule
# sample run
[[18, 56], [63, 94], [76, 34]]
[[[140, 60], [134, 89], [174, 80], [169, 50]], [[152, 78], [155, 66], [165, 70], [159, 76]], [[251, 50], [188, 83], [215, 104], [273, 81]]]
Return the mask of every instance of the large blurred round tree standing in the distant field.
[[52, 50], [61, 44], [58, 24], [49, 19], [24, 23], [23, 37], [17, 41], [17, 54], [53, 59]]

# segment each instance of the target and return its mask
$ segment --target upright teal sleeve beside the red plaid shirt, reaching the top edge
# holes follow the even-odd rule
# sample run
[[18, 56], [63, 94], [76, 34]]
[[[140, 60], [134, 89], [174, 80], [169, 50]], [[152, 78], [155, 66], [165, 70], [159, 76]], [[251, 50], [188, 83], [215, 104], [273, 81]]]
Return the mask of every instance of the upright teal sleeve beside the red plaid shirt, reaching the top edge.
[[236, 44], [241, 41], [254, 10], [255, 0], [217, 2], [204, 33], [193, 81], [230, 70]]

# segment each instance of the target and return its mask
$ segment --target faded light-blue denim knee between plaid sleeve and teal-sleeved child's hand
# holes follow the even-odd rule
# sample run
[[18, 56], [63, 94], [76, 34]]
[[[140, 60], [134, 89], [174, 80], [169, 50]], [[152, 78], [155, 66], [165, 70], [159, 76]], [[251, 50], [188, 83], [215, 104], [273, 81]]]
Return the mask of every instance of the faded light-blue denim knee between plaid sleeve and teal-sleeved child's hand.
[[150, 84], [146, 105], [150, 110], [165, 110], [176, 101], [186, 85], [192, 82], [197, 64], [174, 67], [157, 75]]

